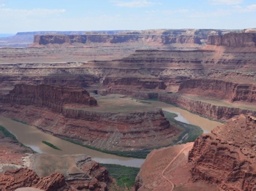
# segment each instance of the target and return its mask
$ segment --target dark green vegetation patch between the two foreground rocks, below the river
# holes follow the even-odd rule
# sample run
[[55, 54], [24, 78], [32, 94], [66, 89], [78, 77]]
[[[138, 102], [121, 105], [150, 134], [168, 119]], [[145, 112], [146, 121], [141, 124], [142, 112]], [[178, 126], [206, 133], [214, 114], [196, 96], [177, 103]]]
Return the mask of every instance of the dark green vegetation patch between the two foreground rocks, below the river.
[[135, 184], [135, 178], [140, 171], [140, 168], [127, 167], [124, 165], [112, 165], [112, 164], [101, 164], [104, 165], [113, 178], [116, 179], [118, 187], [132, 187]]

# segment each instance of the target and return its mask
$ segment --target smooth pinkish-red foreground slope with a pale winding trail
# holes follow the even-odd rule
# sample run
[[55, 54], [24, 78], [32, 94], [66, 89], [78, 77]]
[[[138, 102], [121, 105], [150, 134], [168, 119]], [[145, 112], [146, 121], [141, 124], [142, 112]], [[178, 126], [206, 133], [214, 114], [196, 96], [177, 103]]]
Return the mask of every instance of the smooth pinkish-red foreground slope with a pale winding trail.
[[135, 190], [172, 190], [173, 185], [174, 190], [182, 191], [217, 190], [214, 185], [191, 182], [191, 165], [187, 163], [187, 157], [192, 145], [181, 144], [152, 151], [136, 177]]

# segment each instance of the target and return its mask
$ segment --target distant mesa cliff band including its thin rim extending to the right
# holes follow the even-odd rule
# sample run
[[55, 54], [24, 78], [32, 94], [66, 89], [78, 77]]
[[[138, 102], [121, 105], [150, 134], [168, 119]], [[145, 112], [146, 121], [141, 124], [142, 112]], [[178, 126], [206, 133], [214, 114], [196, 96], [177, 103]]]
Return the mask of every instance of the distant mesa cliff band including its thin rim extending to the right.
[[[84, 34], [40, 34], [34, 35], [34, 44], [30, 47], [48, 44], [143, 44], [156, 46], [157, 44], [205, 44], [209, 34], [226, 34], [225, 30], [147, 30], [147, 31], [117, 31], [116, 33], [84, 33]], [[188, 46], [188, 45], [187, 45]], [[200, 46], [197, 46], [200, 47]]]

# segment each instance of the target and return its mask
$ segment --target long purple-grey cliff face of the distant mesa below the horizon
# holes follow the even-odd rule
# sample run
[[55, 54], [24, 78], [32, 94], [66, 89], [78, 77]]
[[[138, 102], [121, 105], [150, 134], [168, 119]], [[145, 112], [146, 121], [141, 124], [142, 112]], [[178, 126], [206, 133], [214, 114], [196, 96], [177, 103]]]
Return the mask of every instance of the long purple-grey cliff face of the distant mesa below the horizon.
[[[64, 34], [44, 34], [34, 36], [34, 45], [36, 44], [73, 44], [73, 43], [145, 43], [151, 44], [202, 44], [198, 36], [170, 36], [170, 35], [148, 35], [148, 34], [85, 34], [85, 35], [64, 35]], [[31, 47], [33, 47], [32, 45]]]

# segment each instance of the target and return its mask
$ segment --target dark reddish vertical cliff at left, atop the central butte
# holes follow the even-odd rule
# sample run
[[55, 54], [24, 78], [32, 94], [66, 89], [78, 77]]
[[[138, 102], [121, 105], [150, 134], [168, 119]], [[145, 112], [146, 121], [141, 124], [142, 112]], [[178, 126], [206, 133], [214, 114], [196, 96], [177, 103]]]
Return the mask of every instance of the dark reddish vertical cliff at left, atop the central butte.
[[97, 106], [95, 98], [86, 90], [53, 85], [15, 85], [9, 95], [0, 98], [1, 103], [47, 107], [62, 112], [65, 104]]

